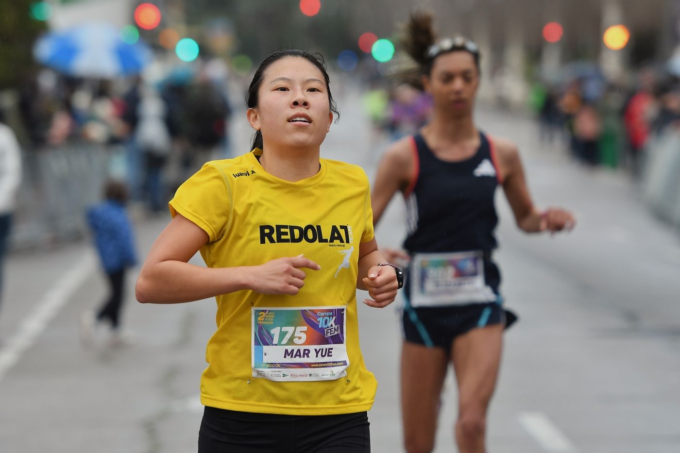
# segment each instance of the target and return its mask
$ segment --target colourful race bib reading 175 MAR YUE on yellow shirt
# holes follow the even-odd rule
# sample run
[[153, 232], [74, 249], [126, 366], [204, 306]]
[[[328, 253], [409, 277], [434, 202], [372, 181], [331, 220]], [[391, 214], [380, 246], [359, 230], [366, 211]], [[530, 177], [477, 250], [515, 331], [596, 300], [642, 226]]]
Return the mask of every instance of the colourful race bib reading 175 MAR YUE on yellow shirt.
[[271, 381], [326, 381], [350, 365], [345, 307], [252, 309], [252, 375]]

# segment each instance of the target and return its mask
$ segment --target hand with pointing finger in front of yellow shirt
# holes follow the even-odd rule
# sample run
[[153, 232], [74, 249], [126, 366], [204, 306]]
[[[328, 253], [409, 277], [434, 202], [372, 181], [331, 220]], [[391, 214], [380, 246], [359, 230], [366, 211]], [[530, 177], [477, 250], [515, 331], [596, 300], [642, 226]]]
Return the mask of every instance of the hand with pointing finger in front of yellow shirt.
[[318, 271], [321, 266], [302, 255], [277, 258], [259, 266], [248, 267], [248, 288], [260, 294], [294, 296], [305, 284], [302, 269]]

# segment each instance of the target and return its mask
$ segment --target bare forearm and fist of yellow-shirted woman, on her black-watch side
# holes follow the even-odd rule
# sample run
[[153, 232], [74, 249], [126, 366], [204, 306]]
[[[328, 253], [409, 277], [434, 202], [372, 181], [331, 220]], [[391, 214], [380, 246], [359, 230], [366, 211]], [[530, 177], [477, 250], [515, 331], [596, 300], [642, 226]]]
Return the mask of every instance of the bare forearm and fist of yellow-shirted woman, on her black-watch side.
[[364, 303], [376, 308], [390, 305], [396, 297], [399, 286], [394, 269], [390, 266], [378, 266], [380, 263], [386, 263], [386, 260], [378, 250], [375, 237], [371, 241], [359, 244], [356, 288], [367, 290], [371, 299], [364, 299]]

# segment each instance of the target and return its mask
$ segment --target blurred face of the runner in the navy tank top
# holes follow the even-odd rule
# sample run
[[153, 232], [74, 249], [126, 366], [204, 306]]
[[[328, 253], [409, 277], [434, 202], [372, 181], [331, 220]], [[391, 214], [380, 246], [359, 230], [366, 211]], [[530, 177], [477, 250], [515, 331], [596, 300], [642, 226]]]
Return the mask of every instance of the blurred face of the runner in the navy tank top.
[[437, 56], [423, 85], [435, 101], [435, 110], [456, 117], [472, 114], [479, 71], [470, 52], [449, 52]]

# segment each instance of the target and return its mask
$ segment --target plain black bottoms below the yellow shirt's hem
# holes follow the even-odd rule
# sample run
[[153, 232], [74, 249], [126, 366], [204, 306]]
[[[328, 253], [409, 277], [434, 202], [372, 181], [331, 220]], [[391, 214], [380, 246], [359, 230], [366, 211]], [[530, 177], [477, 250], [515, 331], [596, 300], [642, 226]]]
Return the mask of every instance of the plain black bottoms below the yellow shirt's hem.
[[370, 453], [366, 412], [255, 414], [205, 407], [199, 453]]

